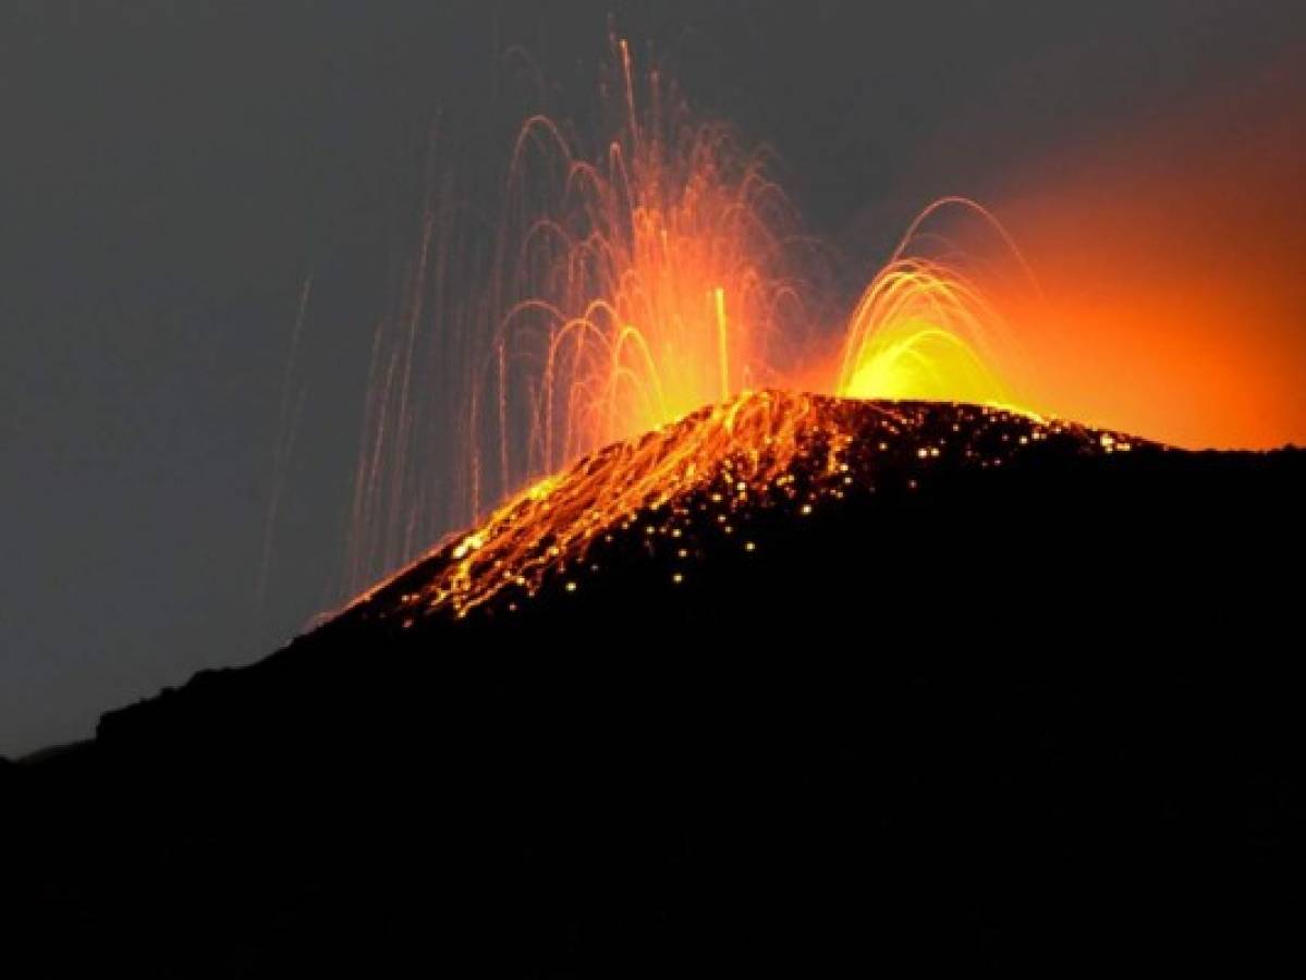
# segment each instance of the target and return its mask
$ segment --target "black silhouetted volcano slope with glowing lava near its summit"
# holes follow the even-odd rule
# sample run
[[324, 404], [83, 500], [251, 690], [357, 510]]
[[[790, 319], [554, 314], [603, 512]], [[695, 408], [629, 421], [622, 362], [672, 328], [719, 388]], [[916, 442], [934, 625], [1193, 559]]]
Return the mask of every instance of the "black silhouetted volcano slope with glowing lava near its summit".
[[223, 976], [1298, 958], [1302, 453], [799, 402], [776, 459], [568, 534], [705, 410], [0, 767], [9, 934]]

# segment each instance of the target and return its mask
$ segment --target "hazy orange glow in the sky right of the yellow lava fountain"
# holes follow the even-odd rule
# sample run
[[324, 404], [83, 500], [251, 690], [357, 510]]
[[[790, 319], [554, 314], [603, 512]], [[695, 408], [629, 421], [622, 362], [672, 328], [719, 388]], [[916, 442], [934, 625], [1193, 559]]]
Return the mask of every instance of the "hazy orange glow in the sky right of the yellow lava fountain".
[[991, 202], [1042, 290], [1010, 316], [1040, 408], [1186, 448], [1306, 444], [1301, 87], [1269, 73]]

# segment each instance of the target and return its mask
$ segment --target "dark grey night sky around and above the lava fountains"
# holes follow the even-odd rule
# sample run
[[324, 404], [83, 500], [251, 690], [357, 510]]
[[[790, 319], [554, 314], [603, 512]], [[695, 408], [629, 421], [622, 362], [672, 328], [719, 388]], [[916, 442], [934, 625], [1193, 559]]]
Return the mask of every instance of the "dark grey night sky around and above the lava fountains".
[[1016, 201], [1157, 120], [1241, 116], [1242, 93], [1272, 115], [1306, 50], [1301, 0], [4, 4], [0, 754], [340, 603], [372, 328], [432, 121], [458, 134], [441, 164], [492, 183], [521, 46], [584, 128], [610, 12], [774, 147], [808, 226], [866, 268], [934, 197]]

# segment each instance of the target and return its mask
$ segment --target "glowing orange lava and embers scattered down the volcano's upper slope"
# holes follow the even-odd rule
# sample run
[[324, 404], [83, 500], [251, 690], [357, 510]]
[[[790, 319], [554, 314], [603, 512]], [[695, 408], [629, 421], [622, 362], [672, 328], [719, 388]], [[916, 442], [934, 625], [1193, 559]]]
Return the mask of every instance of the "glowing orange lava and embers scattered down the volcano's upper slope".
[[404, 628], [515, 613], [541, 595], [586, 590], [631, 556], [663, 565], [679, 586], [717, 553], [764, 548], [759, 525], [777, 514], [801, 521], [912, 493], [940, 470], [1127, 452], [1165, 448], [989, 406], [746, 393], [530, 485], [351, 609]]

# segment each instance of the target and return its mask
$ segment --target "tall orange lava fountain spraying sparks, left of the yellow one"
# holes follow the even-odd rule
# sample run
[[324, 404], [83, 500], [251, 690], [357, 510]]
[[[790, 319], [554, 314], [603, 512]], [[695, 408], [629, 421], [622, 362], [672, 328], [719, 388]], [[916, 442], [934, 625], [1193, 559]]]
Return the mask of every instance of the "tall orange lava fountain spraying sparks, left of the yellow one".
[[765, 154], [696, 120], [657, 72], [639, 81], [626, 42], [614, 55], [619, 124], [596, 158], [545, 116], [526, 121], [513, 151], [505, 312], [478, 402], [500, 435], [529, 433], [524, 452], [499, 440], [490, 465], [503, 485], [784, 384], [811, 329], [812, 247]]

